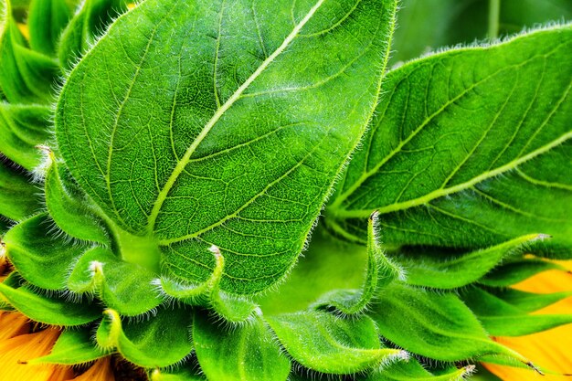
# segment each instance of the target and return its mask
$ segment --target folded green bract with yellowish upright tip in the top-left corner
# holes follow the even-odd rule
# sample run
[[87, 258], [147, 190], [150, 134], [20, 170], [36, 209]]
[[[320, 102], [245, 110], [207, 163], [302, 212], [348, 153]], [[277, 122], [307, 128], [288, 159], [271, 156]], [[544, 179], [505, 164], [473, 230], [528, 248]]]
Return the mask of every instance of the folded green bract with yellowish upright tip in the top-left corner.
[[53, 101], [52, 87], [58, 78], [58, 65], [47, 56], [26, 48], [26, 39], [12, 17], [11, 0], [3, 3], [0, 88], [10, 103], [49, 104]]

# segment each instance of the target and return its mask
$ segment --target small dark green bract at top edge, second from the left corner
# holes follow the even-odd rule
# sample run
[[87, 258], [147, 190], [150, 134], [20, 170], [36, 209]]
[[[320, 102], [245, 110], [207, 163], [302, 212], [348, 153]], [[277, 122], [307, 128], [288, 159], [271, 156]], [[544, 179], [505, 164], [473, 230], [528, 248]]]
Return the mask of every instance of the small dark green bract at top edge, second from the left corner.
[[65, 0], [32, 0], [27, 16], [30, 47], [53, 56], [70, 17], [71, 10]]

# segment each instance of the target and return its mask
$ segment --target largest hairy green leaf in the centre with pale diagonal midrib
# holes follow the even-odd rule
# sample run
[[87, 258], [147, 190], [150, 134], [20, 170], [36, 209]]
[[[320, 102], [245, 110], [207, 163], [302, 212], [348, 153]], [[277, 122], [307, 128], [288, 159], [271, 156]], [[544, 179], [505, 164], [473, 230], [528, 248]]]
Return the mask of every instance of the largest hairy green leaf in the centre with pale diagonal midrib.
[[56, 134], [116, 228], [160, 247], [128, 260], [202, 281], [214, 244], [221, 290], [281, 280], [372, 115], [395, 7], [148, 0], [119, 17], [69, 75]]

